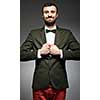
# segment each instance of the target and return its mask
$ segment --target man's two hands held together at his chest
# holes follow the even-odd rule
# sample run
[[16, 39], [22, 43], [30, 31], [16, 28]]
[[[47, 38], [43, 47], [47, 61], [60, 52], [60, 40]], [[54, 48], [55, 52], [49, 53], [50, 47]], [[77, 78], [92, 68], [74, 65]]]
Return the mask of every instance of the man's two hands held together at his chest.
[[54, 44], [45, 43], [45, 44], [43, 44], [42, 48], [40, 49], [40, 54], [42, 54], [42, 55], [47, 55], [47, 54], [60, 55], [60, 49]]

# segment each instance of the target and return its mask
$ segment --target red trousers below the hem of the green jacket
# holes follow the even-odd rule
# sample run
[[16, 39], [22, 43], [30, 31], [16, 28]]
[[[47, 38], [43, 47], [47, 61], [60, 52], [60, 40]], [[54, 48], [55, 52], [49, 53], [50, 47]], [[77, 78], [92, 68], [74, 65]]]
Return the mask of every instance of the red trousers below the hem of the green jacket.
[[33, 91], [33, 100], [65, 100], [66, 89], [40, 89]]

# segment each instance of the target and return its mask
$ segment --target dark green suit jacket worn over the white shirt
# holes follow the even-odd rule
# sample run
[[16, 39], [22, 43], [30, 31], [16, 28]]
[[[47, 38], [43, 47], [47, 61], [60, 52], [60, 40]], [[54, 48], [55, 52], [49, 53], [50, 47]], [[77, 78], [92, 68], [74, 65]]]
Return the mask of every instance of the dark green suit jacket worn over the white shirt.
[[21, 46], [21, 61], [36, 60], [36, 68], [33, 77], [33, 89], [44, 89], [51, 84], [55, 89], [68, 88], [65, 60], [79, 60], [80, 47], [72, 32], [57, 27], [55, 45], [63, 51], [60, 55], [42, 55], [37, 57], [37, 51], [46, 43], [44, 28], [35, 29], [30, 32]]

